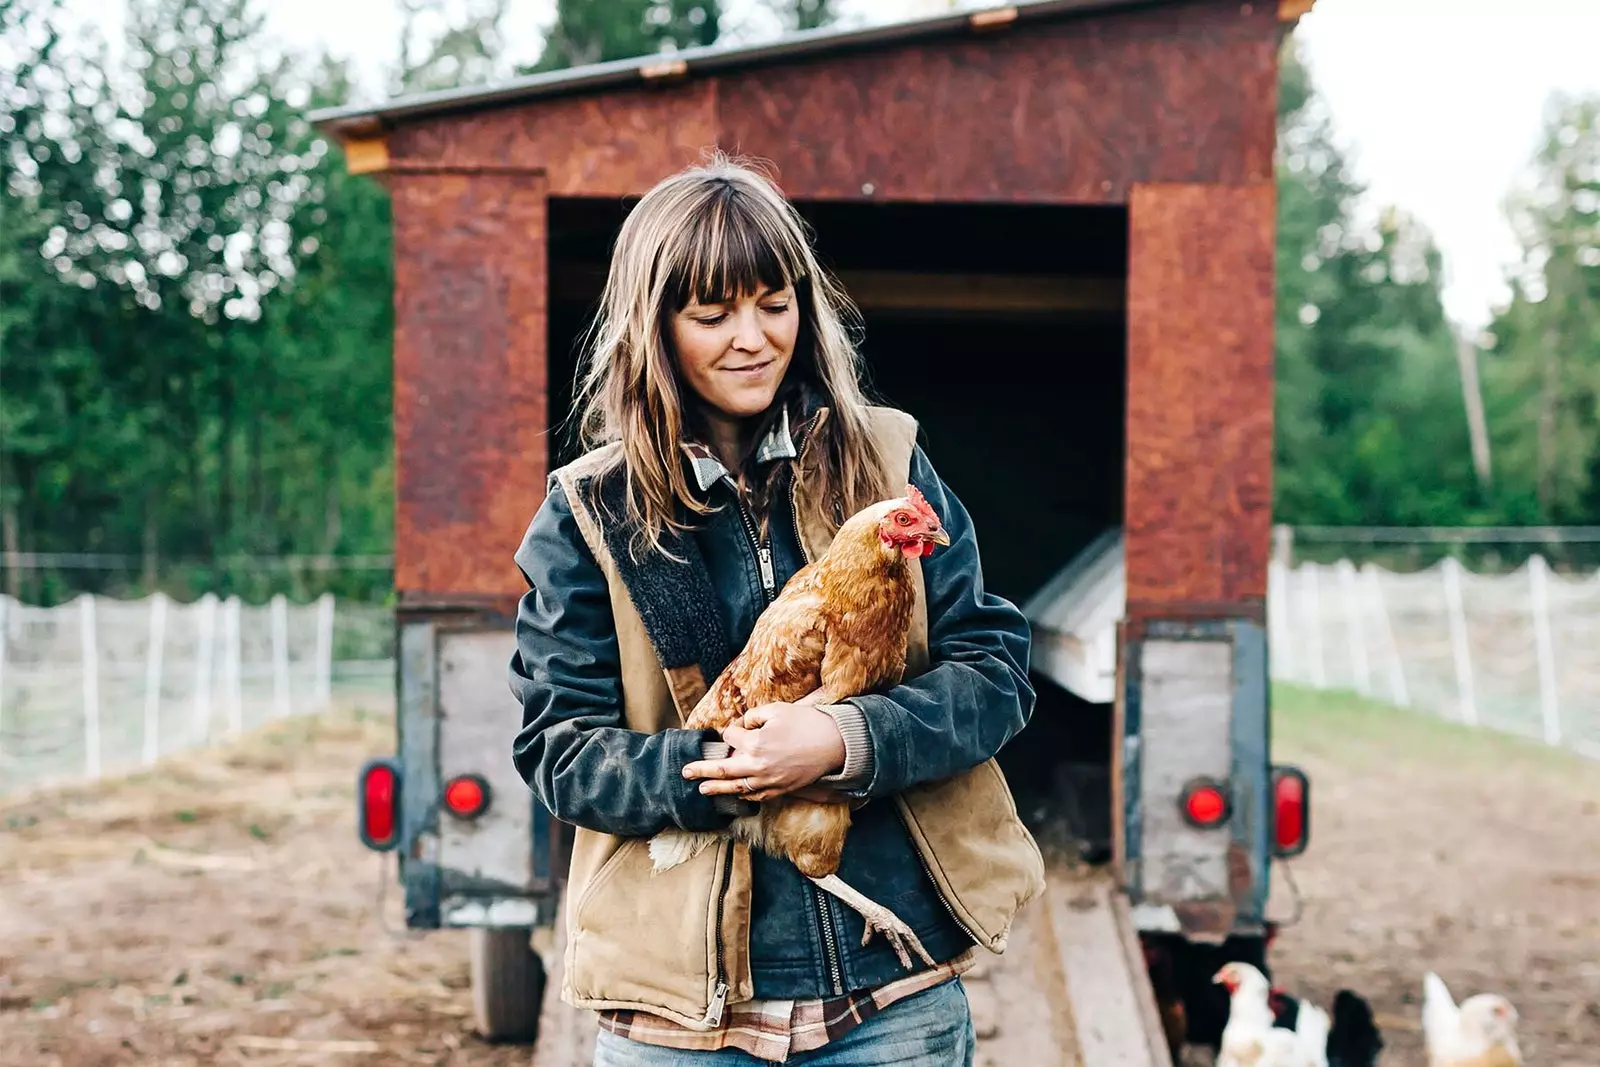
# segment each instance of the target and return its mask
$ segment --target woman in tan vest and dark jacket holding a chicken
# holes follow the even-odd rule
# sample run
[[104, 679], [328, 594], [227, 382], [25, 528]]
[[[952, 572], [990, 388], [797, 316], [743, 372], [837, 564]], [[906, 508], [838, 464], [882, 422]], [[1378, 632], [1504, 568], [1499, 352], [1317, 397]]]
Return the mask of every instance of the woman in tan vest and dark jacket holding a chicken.
[[[515, 761], [578, 827], [562, 995], [595, 1062], [971, 1062], [957, 976], [1043, 886], [995, 752], [1027, 721], [1027, 625], [982, 589], [960, 501], [872, 408], [845, 298], [760, 174], [675, 174], [618, 237], [579, 403], [594, 446], [550, 477], [517, 563]], [[832, 707], [680, 728], [840, 522], [912, 482], [952, 544], [922, 563], [907, 678]], [[728, 747], [731, 745], [731, 752]], [[907, 971], [787, 862], [728, 843], [653, 873], [645, 838], [742, 797], [856, 803], [838, 870], [933, 957]]]

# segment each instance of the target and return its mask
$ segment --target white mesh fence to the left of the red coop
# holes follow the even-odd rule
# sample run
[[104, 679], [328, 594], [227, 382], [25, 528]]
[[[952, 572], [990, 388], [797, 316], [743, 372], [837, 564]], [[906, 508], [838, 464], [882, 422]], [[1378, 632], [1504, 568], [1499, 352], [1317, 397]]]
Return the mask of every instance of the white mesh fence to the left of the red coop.
[[392, 689], [394, 613], [274, 597], [0, 597], [0, 793], [99, 777]]

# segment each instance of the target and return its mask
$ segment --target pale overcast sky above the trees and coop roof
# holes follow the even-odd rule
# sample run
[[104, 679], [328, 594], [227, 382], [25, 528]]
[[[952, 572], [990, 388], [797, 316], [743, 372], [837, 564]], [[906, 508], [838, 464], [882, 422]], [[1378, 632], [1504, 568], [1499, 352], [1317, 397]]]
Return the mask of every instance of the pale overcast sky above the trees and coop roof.
[[[946, 0], [843, 0], [851, 22], [930, 11]], [[982, 6], [957, 0], [958, 6]], [[107, 32], [122, 0], [74, 0]], [[299, 50], [354, 59], [376, 91], [392, 62], [395, 0], [269, 0], [267, 24]], [[770, 29], [750, 0], [725, 0], [739, 35]], [[554, 0], [510, 0], [512, 59], [539, 54]], [[1600, 93], [1600, 0], [1318, 0], [1298, 30], [1371, 208], [1398, 205], [1434, 232], [1445, 301], [1482, 325], [1517, 254], [1502, 202], [1538, 147], [1550, 93]]]

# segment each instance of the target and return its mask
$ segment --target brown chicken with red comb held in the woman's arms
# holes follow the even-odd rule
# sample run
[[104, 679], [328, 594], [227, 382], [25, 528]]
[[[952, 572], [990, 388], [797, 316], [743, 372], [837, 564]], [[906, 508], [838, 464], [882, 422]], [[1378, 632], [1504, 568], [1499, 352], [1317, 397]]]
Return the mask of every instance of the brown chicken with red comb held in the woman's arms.
[[[717, 675], [685, 726], [722, 729], [763, 704], [837, 704], [896, 685], [906, 672], [915, 601], [909, 561], [947, 544], [939, 515], [912, 485], [904, 498], [851, 515], [822, 558], [795, 573], [755, 621], [744, 651]], [[789, 859], [859, 912], [866, 937], [882, 933], [907, 968], [907, 945], [933, 963], [906, 923], [835, 873], [848, 832], [848, 803], [778, 797], [762, 801], [757, 814], [734, 819], [725, 833], [662, 830], [650, 841], [650, 857], [656, 870], [667, 870], [733, 837]]]

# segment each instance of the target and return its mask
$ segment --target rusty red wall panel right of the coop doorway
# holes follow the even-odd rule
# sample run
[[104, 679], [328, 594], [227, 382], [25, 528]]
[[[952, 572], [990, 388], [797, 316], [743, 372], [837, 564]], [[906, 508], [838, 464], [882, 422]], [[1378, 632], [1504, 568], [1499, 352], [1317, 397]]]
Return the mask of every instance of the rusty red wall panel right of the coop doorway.
[[1275, 192], [1128, 206], [1128, 614], [1256, 606], [1272, 533]]

